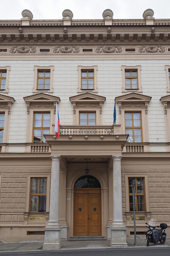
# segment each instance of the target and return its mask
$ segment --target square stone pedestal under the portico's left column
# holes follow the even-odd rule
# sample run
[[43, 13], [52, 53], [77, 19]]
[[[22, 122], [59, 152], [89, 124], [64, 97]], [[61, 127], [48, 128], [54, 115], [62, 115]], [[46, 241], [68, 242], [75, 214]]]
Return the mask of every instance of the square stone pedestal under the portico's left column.
[[45, 227], [43, 250], [58, 250], [61, 248], [61, 228]]

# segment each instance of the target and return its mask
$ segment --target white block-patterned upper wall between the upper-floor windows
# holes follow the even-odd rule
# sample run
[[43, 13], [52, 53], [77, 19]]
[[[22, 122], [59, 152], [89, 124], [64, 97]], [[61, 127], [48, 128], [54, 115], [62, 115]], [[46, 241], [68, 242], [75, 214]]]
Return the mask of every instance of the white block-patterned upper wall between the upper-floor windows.
[[[15, 99], [11, 108], [9, 143], [25, 143], [27, 111], [23, 97], [33, 95], [34, 66], [54, 66], [53, 96], [60, 97], [58, 105], [60, 124], [73, 124], [73, 108], [69, 97], [77, 95], [77, 66], [97, 65], [97, 94], [106, 97], [103, 105], [103, 124], [113, 124], [115, 97], [127, 94], [122, 92], [121, 65], [141, 65], [141, 86], [144, 95], [152, 97], [148, 105], [149, 142], [166, 142], [163, 104], [160, 98], [168, 95], [166, 91], [165, 65], [168, 60], [73, 60], [73, 61], [0, 61], [0, 66], [9, 65], [9, 93]], [[54, 122], [53, 122], [54, 123]], [[117, 109], [117, 124], [119, 115]]]

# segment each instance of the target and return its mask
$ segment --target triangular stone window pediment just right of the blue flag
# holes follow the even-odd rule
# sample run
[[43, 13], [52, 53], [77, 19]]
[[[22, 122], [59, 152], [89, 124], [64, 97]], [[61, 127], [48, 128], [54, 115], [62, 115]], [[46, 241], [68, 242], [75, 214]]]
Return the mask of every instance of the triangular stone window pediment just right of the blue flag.
[[148, 103], [152, 97], [137, 94], [135, 92], [119, 96], [115, 98], [115, 101], [119, 105], [119, 113], [121, 113], [121, 108], [145, 108], [146, 113], [148, 112]]

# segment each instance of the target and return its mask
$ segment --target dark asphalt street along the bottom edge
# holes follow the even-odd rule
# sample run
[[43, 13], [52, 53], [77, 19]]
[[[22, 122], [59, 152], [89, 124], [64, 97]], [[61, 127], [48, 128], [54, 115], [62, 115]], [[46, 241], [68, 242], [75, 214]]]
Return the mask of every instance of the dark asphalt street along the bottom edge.
[[169, 256], [170, 247], [134, 247], [85, 250], [58, 250], [37, 252], [0, 252], [0, 256]]

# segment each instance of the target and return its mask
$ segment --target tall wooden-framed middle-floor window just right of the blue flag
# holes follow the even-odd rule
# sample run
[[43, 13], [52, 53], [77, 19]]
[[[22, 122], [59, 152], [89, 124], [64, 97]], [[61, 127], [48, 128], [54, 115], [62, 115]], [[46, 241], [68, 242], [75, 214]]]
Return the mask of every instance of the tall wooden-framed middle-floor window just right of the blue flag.
[[129, 143], [142, 142], [141, 112], [125, 112], [125, 132]]

